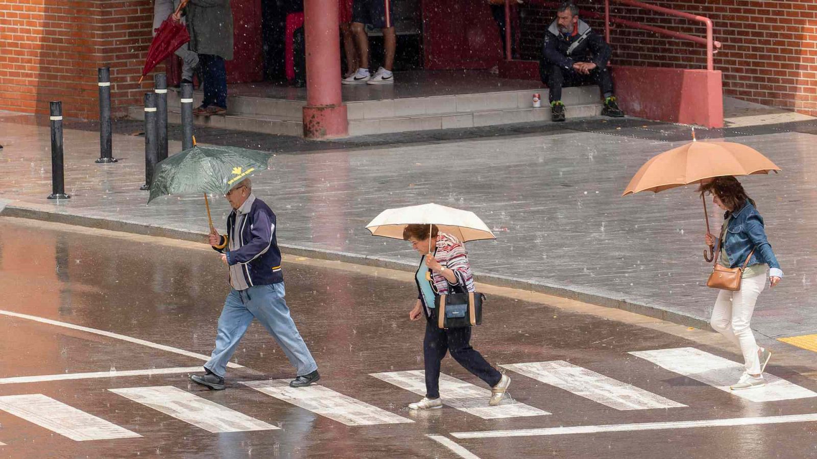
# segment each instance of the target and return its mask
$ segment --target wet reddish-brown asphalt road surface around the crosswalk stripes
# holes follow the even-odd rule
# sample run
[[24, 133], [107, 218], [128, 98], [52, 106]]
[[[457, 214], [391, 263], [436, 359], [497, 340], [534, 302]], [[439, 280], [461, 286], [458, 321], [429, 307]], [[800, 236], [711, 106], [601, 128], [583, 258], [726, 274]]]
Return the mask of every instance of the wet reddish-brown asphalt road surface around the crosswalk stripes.
[[[283, 353], [258, 323], [244, 336], [233, 360], [244, 368], [229, 370], [227, 390], [210, 391], [189, 385], [186, 372], [115, 374], [203, 363], [193, 356], [6, 314], [29, 314], [208, 355], [228, 290], [227, 274], [217, 254], [187, 246], [0, 219], [0, 310], [4, 311], [0, 314], [0, 408], [9, 395], [43, 394], [141, 435], [76, 441], [4, 410], [0, 411], [0, 443], [5, 445], [0, 446], [0, 457], [817, 457], [815, 421], [456, 438], [452, 433], [817, 412], [817, 398], [752, 402], [627, 354], [691, 346], [739, 360], [735, 350], [503, 296], [489, 297], [484, 325], [475, 328], [471, 341], [493, 365], [568, 361], [685, 406], [624, 411], [507, 372], [516, 402], [551, 414], [484, 419], [449, 405], [433, 412], [409, 412], [404, 407], [419, 399], [417, 394], [369, 374], [422, 369], [423, 324], [407, 319], [416, 297], [414, 284], [297, 262], [284, 265], [287, 301], [319, 363], [323, 377], [319, 384], [413, 422], [346, 426], [331, 416], [242, 385], [242, 381], [294, 377]], [[487, 389], [450, 357], [442, 371]], [[817, 381], [799, 374], [810, 368], [772, 362], [767, 371], [817, 390]], [[6, 379], [82, 372], [109, 375], [63, 381]], [[176, 387], [279, 429], [212, 433], [109, 391], [149, 386]], [[442, 397], [446, 401], [444, 390]], [[53, 417], [51, 412], [39, 414]], [[206, 417], [206, 413], [200, 415]], [[466, 448], [458, 450], [466, 456], [428, 434]]]

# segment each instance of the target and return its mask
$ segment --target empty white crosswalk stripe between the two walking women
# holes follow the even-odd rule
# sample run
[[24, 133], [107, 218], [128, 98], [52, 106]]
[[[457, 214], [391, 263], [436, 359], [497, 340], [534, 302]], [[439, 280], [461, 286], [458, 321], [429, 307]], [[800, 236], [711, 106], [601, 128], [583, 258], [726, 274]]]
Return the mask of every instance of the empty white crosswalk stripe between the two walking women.
[[578, 367], [564, 360], [512, 363], [500, 366], [617, 410], [680, 408], [686, 406], [683, 403], [673, 402], [635, 385], [605, 377], [602, 374]]

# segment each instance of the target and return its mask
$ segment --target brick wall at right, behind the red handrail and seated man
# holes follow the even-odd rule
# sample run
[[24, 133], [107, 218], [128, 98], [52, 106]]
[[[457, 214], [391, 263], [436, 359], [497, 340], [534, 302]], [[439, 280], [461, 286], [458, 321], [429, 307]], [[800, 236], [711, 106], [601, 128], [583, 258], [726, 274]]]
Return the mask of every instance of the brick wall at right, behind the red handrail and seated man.
[[[534, 0], [535, 1], [535, 0]], [[817, 0], [642, 0], [660, 7], [709, 17], [723, 48], [715, 69], [723, 73], [724, 94], [817, 116]], [[578, 7], [604, 12], [600, 0], [577, 0]], [[612, 16], [705, 37], [696, 22], [615, 6]], [[527, 4], [521, 17], [522, 56], [538, 59], [552, 7]], [[587, 20], [603, 31], [600, 20]], [[613, 62], [689, 69], [706, 68], [703, 45], [615, 25]]]

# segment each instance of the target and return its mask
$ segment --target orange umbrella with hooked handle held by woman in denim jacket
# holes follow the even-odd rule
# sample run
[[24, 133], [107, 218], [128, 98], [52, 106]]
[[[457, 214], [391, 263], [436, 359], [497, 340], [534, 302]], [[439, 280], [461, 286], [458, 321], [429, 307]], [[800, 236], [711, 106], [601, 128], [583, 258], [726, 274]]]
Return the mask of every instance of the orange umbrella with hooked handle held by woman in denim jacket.
[[[756, 149], [732, 142], [697, 142], [693, 132], [690, 144], [658, 154], [641, 166], [622, 196], [640, 191], [658, 193], [664, 189], [701, 183], [719, 176], [748, 176], [780, 170]], [[709, 233], [707, 201], [703, 194], [701, 199]], [[714, 252], [715, 248], [709, 246], [709, 253], [704, 250], [703, 258], [712, 261]]]

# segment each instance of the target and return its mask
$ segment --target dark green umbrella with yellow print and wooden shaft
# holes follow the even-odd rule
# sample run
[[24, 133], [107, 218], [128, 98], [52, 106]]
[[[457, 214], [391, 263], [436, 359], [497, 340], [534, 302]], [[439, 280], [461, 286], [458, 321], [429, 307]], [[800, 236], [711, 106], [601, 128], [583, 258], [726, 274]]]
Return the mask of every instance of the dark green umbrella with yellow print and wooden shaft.
[[163, 194], [203, 193], [210, 219], [207, 195], [226, 194], [241, 180], [266, 170], [269, 159], [269, 153], [254, 149], [194, 143], [193, 148], [156, 164], [148, 203]]

